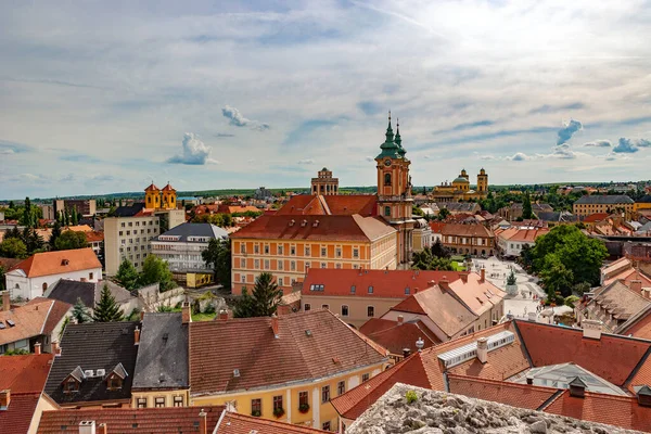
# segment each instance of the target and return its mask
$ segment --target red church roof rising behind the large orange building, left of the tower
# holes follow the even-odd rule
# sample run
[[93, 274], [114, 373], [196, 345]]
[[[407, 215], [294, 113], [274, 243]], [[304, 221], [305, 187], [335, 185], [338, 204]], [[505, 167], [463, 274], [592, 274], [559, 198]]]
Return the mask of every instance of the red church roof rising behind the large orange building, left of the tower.
[[374, 194], [354, 195], [295, 195], [277, 213], [292, 216], [350, 216], [378, 215], [378, 197]]

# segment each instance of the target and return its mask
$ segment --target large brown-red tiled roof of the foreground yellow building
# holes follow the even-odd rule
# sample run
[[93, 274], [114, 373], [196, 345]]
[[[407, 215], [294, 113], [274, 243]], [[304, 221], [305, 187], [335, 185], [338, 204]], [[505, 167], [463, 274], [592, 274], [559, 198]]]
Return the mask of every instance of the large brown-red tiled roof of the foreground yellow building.
[[279, 317], [278, 337], [271, 321], [258, 317], [190, 323], [192, 394], [311, 381], [386, 359], [329, 310]]

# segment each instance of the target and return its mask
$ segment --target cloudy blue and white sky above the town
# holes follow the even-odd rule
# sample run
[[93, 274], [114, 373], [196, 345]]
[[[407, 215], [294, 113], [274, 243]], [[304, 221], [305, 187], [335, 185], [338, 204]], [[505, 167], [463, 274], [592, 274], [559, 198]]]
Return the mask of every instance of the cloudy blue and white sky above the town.
[[0, 197], [649, 179], [651, 1], [4, 1]]

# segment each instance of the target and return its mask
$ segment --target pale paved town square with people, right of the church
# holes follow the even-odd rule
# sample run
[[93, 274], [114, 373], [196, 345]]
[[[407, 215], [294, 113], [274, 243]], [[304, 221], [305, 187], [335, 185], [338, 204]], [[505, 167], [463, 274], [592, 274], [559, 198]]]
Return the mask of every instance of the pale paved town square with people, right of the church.
[[[538, 278], [527, 275], [522, 267], [511, 260], [500, 260], [495, 256], [488, 259], [474, 259], [473, 271], [480, 272], [485, 267], [486, 280], [505, 290], [507, 277], [511, 269], [515, 272], [518, 295], [508, 295], [505, 298], [505, 314], [513, 314], [516, 318], [526, 318], [527, 312], [535, 311], [540, 304], [539, 298], [545, 296], [545, 291], [538, 285]], [[534, 298], [534, 296], [537, 296]]]

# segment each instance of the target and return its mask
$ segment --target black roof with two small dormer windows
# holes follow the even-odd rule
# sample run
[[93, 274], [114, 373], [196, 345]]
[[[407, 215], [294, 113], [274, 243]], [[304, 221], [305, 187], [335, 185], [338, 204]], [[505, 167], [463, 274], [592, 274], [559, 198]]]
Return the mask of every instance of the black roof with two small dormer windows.
[[[138, 354], [133, 337], [137, 326], [137, 322], [67, 324], [60, 345], [62, 354], [54, 358], [46, 384], [48, 395], [61, 405], [128, 400]], [[126, 379], [120, 390], [108, 391], [106, 375], [119, 363], [124, 367]], [[64, 393], [62, 382], [77, 367], [82, 371], [104, 369], [105, 374], [86, 376], [79, 392]]]

